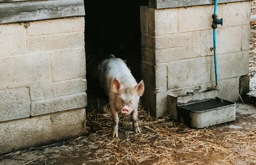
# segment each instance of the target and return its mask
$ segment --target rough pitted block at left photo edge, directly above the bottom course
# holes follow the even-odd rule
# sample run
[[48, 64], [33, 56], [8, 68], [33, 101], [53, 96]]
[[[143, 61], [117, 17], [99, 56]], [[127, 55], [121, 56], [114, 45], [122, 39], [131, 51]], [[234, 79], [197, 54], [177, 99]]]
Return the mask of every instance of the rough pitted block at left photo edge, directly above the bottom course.
[[30, 115], [28, 88], [0, 91], [0, 122], [21, 119]]

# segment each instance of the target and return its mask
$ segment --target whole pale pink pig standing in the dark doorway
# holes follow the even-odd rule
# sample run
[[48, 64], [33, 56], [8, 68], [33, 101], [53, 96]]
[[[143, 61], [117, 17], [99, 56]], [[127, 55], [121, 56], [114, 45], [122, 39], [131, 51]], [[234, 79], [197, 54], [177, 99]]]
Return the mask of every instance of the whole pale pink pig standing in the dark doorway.
[[134, 131], [140, 133], [137, 116], [139, 99], [144, 93], [143, 80], [137, 83], [125, 62], [114, 55], [102, 62], [99, 80], [109, 97], [113, 119], [112, 136], [118, 137], [118, 112], [124, 117], [131, 114]]

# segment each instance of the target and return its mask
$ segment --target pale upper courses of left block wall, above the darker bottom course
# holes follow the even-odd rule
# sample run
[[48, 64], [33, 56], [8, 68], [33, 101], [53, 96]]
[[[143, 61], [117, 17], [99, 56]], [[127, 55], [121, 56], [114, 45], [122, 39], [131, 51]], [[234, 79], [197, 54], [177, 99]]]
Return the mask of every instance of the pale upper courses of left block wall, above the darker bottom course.
[[86, 106], [84, 23], [0, 25], [0, 122]]

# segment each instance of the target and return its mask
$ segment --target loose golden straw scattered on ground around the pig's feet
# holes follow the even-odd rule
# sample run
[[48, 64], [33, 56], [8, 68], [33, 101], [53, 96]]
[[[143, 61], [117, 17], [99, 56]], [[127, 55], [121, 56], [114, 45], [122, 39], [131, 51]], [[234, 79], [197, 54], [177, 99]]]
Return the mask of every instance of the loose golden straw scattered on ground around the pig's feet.
[[256, 155], [256, 128], [241, 134], [240, 130], [230, 132], [223, 125], [190, 129], [174, 123], [168, 127], [168, 116], [155, 119], [141, 105], [138, 119], [142, 133], [135, 134], [130, 119], [119, 116], [119, 138], [112, 138], [109, 108], [90, 113], [87, 138], [95, 142], [97, 150], [85, 164], [236, 164], [235, 158], [245, 156], [241, 154], [246, 150]]

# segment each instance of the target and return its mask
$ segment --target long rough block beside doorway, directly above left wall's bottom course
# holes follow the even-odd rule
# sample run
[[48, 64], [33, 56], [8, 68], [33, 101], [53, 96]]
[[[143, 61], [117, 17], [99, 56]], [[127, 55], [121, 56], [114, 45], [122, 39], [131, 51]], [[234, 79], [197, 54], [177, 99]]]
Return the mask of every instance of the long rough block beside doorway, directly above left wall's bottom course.
[[87, 106], [86, 93], [78, 93], [45, 100], [33, 101], [31, 116], [49, 114], [58, 111], [71, 110]]

